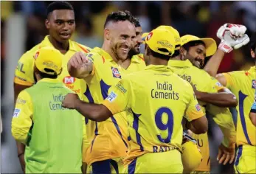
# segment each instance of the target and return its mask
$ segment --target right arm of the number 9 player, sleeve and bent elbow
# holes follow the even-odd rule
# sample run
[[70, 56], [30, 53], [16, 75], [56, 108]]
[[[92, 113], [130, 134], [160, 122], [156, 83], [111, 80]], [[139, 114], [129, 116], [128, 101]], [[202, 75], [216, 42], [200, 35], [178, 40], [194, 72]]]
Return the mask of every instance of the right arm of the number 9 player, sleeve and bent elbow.
[[190, 95], [190, 103], [188, 104], [185, 113], [185, 118], [188, 121], [185, 126], [187, 129], [193, 131], [193, 133], [206, 133], [208, 130], [207, 118], [196, 100], [192, 86], [188, 86], [187, 91]]

